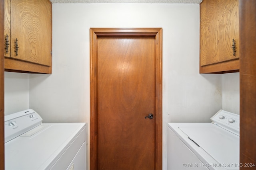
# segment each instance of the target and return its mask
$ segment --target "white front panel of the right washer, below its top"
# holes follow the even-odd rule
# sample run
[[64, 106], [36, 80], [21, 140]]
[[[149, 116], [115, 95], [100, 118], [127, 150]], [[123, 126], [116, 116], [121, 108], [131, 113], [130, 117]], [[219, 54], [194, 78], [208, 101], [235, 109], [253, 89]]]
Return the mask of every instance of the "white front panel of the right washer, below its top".
[[202, 161], [168, 128], [168, 170], [208, 170]]

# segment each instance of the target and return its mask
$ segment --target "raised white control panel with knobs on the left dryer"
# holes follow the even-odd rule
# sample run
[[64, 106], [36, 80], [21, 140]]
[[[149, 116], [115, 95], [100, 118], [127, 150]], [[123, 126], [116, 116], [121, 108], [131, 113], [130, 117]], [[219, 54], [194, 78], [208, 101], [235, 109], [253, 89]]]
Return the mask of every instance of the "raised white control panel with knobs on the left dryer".
[[33, 109], [4, 116], [4, 143], [42, 124], [42, 118]]

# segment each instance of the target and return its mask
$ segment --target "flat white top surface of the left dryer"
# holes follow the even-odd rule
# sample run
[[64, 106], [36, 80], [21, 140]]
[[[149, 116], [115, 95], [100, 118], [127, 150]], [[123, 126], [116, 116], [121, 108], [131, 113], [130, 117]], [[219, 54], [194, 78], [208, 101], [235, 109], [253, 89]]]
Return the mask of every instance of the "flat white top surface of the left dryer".
[[50, 169], [85, 126], [85, 123], [42, 123], [6, 142], [6, 170]]

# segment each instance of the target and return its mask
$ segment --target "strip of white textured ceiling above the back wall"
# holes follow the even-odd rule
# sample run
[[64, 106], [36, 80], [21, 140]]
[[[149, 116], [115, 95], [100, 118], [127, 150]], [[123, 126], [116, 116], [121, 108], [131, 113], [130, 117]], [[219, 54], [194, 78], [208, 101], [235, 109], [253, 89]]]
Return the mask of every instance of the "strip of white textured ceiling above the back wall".
[[52, 3], [200, 4], [202, 0], [50, 0]]

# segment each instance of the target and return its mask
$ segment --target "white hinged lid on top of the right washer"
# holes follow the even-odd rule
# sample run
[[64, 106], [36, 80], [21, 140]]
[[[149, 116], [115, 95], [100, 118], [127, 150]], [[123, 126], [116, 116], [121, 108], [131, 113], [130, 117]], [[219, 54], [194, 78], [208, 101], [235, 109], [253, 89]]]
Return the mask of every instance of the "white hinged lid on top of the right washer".
[[220, 165], [239, 164], [239, 136], [221, 127], [179, 127]]

